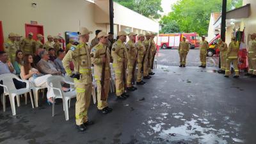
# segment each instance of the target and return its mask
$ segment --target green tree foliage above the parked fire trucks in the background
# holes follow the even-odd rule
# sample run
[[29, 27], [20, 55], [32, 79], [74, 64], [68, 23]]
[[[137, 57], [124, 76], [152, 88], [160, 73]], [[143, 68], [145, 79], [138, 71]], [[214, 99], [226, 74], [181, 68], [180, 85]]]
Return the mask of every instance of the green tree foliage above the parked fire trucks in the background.
[[[241, 6], [242, 0], [227, 0], [227, 10]], [[172, 12], [165, 15], [160, 23], [169, 27], [177, 22], [180, 32], [207, 34], [212, 12], [221, 12], [222, 0], [180, 0], [172, 5]]]

